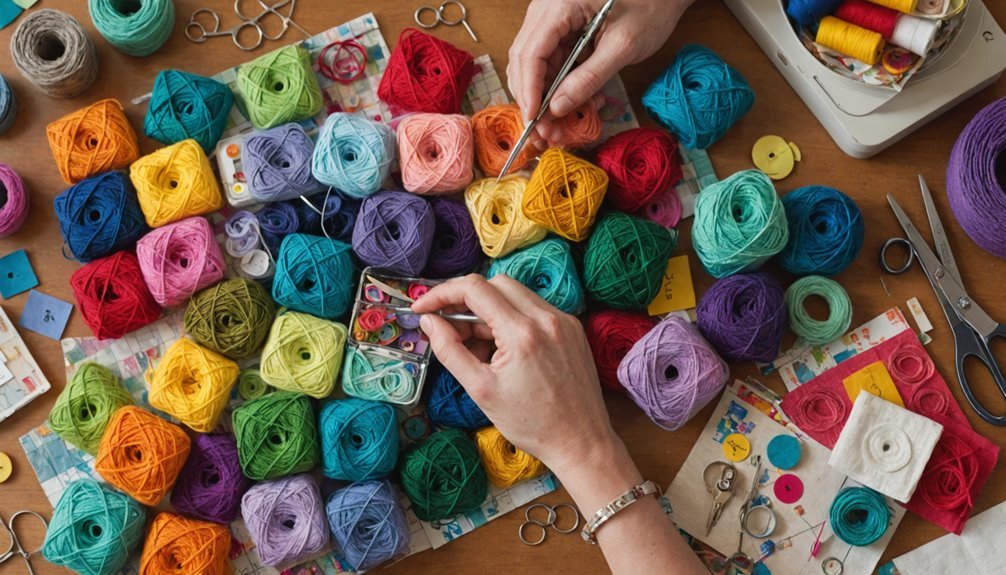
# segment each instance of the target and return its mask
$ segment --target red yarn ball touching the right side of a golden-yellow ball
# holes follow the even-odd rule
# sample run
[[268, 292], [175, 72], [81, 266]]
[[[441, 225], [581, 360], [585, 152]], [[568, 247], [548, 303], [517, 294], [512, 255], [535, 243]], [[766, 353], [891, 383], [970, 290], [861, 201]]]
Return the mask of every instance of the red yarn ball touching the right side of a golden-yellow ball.
[[594, 161], [608, 174], [606, 198], [625, 212], [642, 210], [681, 180], [678, 143], [656, 128], [612, 136], [598, 148]]

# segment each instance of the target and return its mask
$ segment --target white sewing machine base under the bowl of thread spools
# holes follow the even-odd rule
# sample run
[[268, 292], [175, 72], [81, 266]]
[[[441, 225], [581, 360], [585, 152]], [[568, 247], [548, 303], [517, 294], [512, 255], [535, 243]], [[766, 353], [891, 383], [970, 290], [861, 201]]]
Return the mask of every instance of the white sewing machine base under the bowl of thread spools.
[[1006, 69], [1006, 35], [982, 0], [971, 0], [958, 38], [900, 92], [828, 69], [801, 43], [782, 0], [724, 1], [838, 147], [854, 158], [879, 153], [996, 81]]

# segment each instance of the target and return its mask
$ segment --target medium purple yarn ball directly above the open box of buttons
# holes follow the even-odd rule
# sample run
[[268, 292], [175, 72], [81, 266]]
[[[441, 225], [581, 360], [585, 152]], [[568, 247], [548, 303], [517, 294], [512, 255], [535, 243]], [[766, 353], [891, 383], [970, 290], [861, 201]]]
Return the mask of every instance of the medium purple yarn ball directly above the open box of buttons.
[[378, 192], [360, 206], [353, 251], [367, 265], [415, 277], [427, 266], [436, 228], [427, 200], [405, 192]]

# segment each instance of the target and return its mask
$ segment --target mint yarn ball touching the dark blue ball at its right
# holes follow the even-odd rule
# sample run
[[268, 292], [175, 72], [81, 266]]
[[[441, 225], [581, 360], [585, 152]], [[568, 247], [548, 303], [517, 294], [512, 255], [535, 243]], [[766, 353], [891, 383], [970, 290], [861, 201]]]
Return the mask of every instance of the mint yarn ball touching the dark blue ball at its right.
[[695, 202], [692, 244], [706, 271], [753, 271], [790, 239], [783, 202], [769, 176], [744, 170], [707, 187]]

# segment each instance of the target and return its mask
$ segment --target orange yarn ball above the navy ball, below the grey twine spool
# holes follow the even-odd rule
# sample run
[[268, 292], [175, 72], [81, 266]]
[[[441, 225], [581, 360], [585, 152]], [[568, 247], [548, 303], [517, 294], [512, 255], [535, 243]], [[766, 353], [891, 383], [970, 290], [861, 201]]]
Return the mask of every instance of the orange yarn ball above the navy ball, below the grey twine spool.
[[140, 157], [136, 133], [119, 101], [96, 102], [45, 129], [49, 149], [67, 184], [126, 168]]

